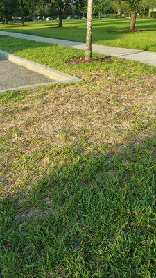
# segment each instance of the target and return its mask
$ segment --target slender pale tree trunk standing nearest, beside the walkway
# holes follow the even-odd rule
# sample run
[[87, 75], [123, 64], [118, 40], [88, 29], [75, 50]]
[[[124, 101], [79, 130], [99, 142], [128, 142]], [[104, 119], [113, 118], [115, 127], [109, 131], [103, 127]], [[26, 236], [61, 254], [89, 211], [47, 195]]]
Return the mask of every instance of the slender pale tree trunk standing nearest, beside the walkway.
[[87, 35], [86, 35], [86, 51], [85, 59], [92, 59], [92, 13], [93, 13], [93, 0], [88, 0], [87, 9]]

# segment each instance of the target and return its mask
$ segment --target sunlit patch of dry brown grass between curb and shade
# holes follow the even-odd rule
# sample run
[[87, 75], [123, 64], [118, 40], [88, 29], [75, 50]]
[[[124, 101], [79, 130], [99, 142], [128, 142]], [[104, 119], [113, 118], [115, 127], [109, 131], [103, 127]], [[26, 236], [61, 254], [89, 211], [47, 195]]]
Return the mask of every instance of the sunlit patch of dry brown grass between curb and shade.
[[136, 134], [151, 134], [155, 75], [121, 79], [96, 71], [87, 79], [27, 91], [21, 100], [1, 105], [1, 192], [31, 188], [55, 165], [67, 163], [70, 152], [97, 154], [135, 141]]

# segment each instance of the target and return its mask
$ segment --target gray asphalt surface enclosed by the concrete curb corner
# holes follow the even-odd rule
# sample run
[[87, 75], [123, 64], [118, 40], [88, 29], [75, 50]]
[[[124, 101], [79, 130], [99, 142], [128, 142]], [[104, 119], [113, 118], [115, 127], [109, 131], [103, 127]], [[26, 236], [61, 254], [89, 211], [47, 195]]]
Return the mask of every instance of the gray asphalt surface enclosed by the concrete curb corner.
[[0, 56], [0, 90], [50, 82], [51, 79], [26, 70]]

